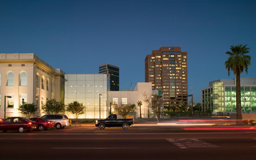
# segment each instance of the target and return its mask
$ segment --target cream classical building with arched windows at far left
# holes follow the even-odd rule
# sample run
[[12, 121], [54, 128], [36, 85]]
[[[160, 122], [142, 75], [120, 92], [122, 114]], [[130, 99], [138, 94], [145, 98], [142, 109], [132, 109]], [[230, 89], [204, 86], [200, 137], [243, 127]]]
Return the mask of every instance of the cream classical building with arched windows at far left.
[[4, 107], [6, 117], [22, 116], [22, 103], [35, 104], [36, 117], [44, 114], [42, 106], [48, 99], [64, 103], [64, 74], [33, 53], [0, 54], [0, 117]]

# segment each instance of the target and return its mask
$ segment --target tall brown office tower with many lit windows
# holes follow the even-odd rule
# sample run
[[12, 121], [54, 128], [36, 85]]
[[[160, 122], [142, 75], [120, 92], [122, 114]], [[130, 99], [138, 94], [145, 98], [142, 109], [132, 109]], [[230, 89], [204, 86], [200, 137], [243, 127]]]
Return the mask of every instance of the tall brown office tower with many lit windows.
[[164, 106], [187, 103], [187, 52], [181, 47], [161, 47], [145, 58], [145, 82], [160, 90]]

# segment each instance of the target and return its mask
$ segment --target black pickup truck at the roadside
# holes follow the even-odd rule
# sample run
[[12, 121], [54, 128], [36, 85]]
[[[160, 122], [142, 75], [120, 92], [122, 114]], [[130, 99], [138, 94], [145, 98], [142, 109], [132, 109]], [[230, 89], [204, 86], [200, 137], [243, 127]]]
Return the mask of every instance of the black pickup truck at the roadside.
[[103, 130], [105, 127], [122, 127], [127, 129], [134, 125], [134, 119], [117, 119], [116, 114], [111, 114], [106, 119], [96, 120], [95, 126]]

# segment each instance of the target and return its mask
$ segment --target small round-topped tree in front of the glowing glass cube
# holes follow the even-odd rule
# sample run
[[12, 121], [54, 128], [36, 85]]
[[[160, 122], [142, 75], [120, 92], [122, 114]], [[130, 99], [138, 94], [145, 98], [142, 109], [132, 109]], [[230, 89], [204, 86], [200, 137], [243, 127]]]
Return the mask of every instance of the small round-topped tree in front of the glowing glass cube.
[[83, 114], [84, 108], [85, 108], [85, 106], [83, 106], [82, 103], [79, 103], [77, 101], [67, 104], [67, 112], [70, 112], [74, 115], [75, 123], [77, 123], [77, 120], [78, 120], [80, 114]]

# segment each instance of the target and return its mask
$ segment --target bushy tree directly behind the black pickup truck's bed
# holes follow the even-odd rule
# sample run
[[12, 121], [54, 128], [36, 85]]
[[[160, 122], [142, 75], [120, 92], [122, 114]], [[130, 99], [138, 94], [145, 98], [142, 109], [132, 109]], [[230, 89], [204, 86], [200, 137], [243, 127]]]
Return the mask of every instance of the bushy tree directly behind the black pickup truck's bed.
[[120, 106], [117, 106], [117, 104], [114, 104], [114, 110], [116, 113], [123, 118], [126, 118], [126, 116], [129, 113], [134, 112], [135, 104], [121, 104]]

